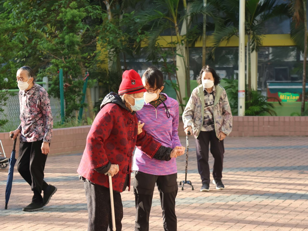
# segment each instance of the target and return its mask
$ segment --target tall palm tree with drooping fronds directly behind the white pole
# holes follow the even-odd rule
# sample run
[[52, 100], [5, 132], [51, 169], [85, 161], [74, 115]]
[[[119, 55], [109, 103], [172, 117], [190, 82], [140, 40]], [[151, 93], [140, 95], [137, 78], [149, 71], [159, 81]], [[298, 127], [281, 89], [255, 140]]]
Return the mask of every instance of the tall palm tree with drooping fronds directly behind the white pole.
[[[222, 11], [222, 22], [217, 24], [213, 33], [213, 49], [211, 52], [214, 58], [214, 51], [222, 41], [233, 35], [238, 35], [239, 25], [239, 0], [220, 0], [213, 3], [217, 9]], [[249, 0], [245, 1], [245, 34], [248, 37], [248, 91], [251, 92], [251, 68], [250, 54], [258, 51], [262, 45], [265, 22], [271, 18], [288, 15], [287, 4], [276, 5], [276, 0]], [[250, 99], [250, 94], [248, 94]]]

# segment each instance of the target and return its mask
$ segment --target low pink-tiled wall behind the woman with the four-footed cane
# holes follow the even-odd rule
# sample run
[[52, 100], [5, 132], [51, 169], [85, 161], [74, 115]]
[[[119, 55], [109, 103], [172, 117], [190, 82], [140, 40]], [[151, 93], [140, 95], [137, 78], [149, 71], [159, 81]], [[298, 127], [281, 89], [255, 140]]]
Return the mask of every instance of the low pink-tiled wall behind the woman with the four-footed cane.
[[[179, 136], [185, 136], [183, 121]], [[233, 116], [229, 136], [308, 136], [308, 116]]]

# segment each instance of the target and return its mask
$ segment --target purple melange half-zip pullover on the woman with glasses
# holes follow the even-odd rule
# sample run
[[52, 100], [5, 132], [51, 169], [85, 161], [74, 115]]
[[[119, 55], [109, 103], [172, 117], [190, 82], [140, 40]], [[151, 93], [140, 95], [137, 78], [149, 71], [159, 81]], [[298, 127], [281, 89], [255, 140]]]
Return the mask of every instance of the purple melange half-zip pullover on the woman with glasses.
[[[181, 146], [177, 131], [179, 126], [179, 103], [166, 94], [164, 95], [167, 97], [164, 103], [168, 108], [170, 118], [167, 117], [164, 103], [160, 103], [157, 108], [149, 103], [144, 104], [143, 108], [137, 111], [137, 114], [140, 116], [141, 124], [144, 123], [143, 129], [153, 136], [154, 140], [157, 140], [165, 147], [174, 148]], [[169, 161], [150, 159], [136, 148], [132, 170], [152, 175], [174, 174], [177, 172], [176, 158]]]

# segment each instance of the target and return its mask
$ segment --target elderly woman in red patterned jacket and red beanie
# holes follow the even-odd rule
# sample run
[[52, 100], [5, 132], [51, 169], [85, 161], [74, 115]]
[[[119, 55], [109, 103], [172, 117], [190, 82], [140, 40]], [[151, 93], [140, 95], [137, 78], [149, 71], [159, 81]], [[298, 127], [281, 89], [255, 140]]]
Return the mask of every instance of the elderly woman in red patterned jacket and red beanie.
[[[111, 227], [111, 209], [108, 176], [112, 177], [114, 190], [115, 226], [122, 229], [123, 205], [120, 193], [130, 190], [132, 152], [135, 145], [150, 158], [170, 160], [184, 154], [184, 147], [167, 148], [153, 140], [146, 132], [138, 132], [136, 111], [144, 105], [145, 88], [140, 75], [124, 71], [119, 94], [109, 93], [93, 121], [87, 136], [77, 172], [84, 180], [88, 204], [88, 231], [104, 231]], [[119, 165], [119, 168], [117, 167]]]

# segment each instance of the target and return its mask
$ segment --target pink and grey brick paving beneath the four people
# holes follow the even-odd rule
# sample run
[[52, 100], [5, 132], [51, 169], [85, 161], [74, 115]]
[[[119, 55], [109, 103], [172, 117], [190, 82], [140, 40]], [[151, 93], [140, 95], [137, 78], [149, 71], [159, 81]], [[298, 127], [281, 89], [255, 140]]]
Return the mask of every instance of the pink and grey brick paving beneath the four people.
[[[230, 137], [225, 141], [225, 190], [200, 192], [194, 139], [190, 138], [187, 179], [176, 198], [179, 231], [197, 230], [308, 230], [308, 138]], [[181, 138], [185, 146], [185, 138]], [[81, 155], [49, 156], [45, 179], [58, 187], [50, 203], [39, 212], [23, 212], [31, 191], [15, 168], [9, 209], [4, 210], [7, 170], [0, 170], [1, 230], [86, 230], [87, 204], [76, 169]], [[210, 157], [213, 165], [213, 158]], [[178, 180], [185, 177], [185, 156], [177, 159]], [[179, 188], [180, 189], [180, 188]], [[123, 230], [133, 230], [134, 195], [122, 193]], [[162, 231], [157, 191], [153, 197], [150, 230]]]

